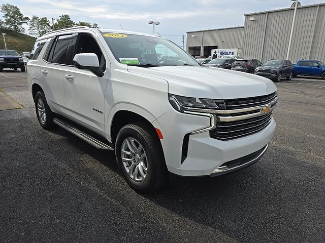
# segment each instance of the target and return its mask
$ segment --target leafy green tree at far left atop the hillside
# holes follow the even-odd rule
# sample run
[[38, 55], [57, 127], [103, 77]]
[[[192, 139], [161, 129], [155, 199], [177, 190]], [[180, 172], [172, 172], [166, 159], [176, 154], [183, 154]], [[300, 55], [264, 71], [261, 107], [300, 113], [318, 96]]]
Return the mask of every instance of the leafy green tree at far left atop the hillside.
[[29, 18], [24, 17], [17, 6], [11, 4], [3, 4], [1, 5], [1, 12], [4, 13], [4, 23], [9, 29], [21, 33], [25, 31], [25, 28], [22, 27], [22, 25], [27, 24]]

